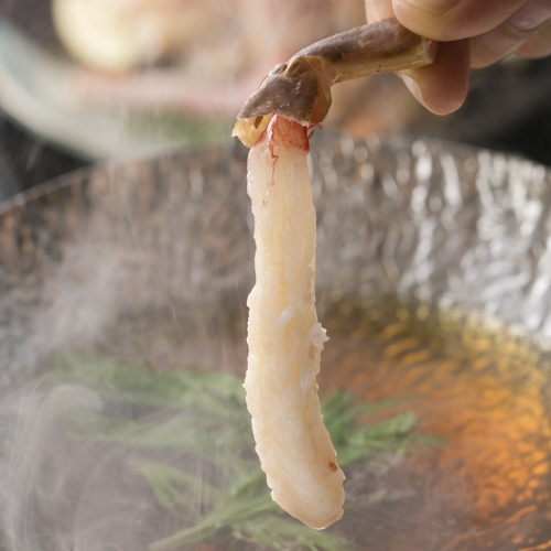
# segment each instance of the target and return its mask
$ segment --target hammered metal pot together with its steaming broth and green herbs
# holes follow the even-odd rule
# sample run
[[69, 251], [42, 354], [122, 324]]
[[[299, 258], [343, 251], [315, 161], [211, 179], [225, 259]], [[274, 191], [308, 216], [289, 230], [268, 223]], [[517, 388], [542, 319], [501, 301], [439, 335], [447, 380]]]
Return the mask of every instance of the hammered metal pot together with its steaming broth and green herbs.
[[[548, 290], [536, 289], [540, 306], [533, 287], [514, 282], [526, 269], [526, 251], [532, 280], [543, 272], [544, 224], [530, 205], [547, 203], [548, 174], [487, 153], [453, 156], [422, 142], [354, 144], [337, 137], [312, 150], [317, 294], [331, 338], [321, 395], [343, 388], [355, 403], [382, 402], [358, 421], [379, 426], [377, 442], [385, 444], [345, 466], [348, 508], [334, 528], [314, 532], [324, 538], [316, 543], [345, 549], [344, 538], [360, 549], [389, 550], [545, 544]], [[182, 368], [242, 376], [244, 300], [252, 281], [244, 182], [242, 154], [220, 148], [75, 176], [2, 216], [3, 300], [14, 312], [6, 329], [13, 332], [6, 341], [6, 356], [18, 367], [12, 380], [21, 386], [25, 369], [45, 364], [69, 363], [88, 374], [75, 378], [65, 369], [65, 379], [48, 378], [33, 383], [26, 398], [4, 400], [4, 419], [21, 421], [15, 406], [24, 402], [29, 422], [19, 425], [34, 428], [19, 440], [4, 431], [10, 453], [15, 441], [34, 446], [3, 476], [7, 484], [15, 473], [17, 499], [2, 511], [13, 549], [58, 549], [60, 541], [75, 549], [147, 549], [208, 517], [210, 485], [227, 493], [235, 479], [228, 457], [236, 450], [251, 474], [249, 462], [257, 460], [247, 417], [229, 392], [240, 387], [235, 379], [216, 379], [234, 401], [227, 419], [213, 410], [208, 420], [193, 404], [174, 411], [180, 387], [170, 378]], [[522, 202], [531, 209], [521, 209]], [[539, 229], [530, 234], [530, 227]], [[10, 241], [14, 233], [21, 237]], [[500, 249], [501, 241], [509, 248]], [[37, 314], [30, 316], [25, 304]], [[15, 333], [14, 321], [33, 331]], [[539, 344], [518, 328], [529, 324]], [[136, 379], [120, 369], [136, 369]], [[114, 381], [101, 372], [127, 376]], [[155, 372], [168, 378], [158, 375], [152, 383]], [[127, 388], [106, 395], [106, 380], [108, 389]], [[134, 396], [129, 389], [141, 398], [128, 399]], [[216, 403], [212, 391], [209, 403]], [[392, 425], [393, 419], [400, 421]], [[134, 433], [122, 441], [116, 429], [127, 421], [155, 428], [145, 431], [153, 443], [136, 442]], [[195, 430], [191, 437], [186, 426]], [[219, 439], [202, 458], [193, 443], [209, 431]], [[159, 463], [166, 468], [155, 469]], [[262, 480], [261, 487], [268, 495]], [[263, 526], [276, 541], [280, 517], [268, 512]], [[236, 540], [227, 523], [184, 549], [207, 545], [255, 549]]]

